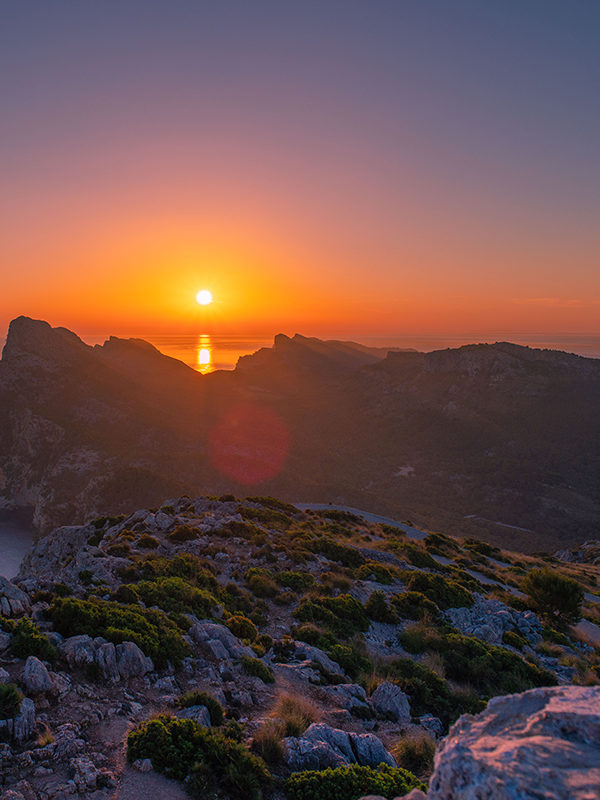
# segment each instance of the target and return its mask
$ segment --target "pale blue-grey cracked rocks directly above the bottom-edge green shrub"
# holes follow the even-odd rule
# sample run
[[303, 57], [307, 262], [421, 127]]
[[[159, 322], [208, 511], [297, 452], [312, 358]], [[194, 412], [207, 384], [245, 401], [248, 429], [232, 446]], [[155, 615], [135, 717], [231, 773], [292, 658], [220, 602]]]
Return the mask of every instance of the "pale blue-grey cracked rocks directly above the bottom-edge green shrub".
[[348, 733], [313, 722], [301, 737], [284, 739], [286, 760], [293, 770], [325, 769], [342, 764], [396, 766], [394, 757], [372, 733]]

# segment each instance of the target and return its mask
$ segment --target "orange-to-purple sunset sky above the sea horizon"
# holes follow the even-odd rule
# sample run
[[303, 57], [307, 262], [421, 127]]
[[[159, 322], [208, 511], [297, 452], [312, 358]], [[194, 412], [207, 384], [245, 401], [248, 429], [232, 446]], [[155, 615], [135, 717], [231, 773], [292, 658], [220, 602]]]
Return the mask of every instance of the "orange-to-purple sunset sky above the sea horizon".
[[0, 0], [0, 335], [598, 333], [598, 41], [596, 0]]

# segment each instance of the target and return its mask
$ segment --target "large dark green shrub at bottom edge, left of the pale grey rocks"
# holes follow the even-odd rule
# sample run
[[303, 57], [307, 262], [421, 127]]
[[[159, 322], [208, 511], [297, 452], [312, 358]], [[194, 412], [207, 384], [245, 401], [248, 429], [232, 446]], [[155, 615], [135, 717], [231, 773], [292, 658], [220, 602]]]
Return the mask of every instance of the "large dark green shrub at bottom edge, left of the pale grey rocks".
[[161, 715], [143, 722], [127, 737], [127, 759], [149, 758], [153, 768], [186, 780], [193, 797], [261, 800], [269, 771], [240, 742], [189, 719]]

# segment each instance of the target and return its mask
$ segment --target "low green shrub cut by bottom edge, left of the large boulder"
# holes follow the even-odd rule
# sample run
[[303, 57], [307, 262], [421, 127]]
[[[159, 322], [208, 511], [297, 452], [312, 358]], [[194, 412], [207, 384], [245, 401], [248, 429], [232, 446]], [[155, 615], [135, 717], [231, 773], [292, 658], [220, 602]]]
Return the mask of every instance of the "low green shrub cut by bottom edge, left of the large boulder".
[[404, 795], [425, 784], [405, 769], [380, 764], [377, 769], [350, 766], [295, 772], [285, 783], [289, 800], [357, 800], [366, 794]]

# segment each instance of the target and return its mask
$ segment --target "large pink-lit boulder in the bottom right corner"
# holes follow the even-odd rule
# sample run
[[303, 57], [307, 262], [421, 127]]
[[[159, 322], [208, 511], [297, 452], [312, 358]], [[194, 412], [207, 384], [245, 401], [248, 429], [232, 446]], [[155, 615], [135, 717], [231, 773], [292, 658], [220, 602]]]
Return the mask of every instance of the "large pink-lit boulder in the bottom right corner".
[[452, 726], [435, 755], [428, 800], [596, 800], [600, 687], [496, 697]]

